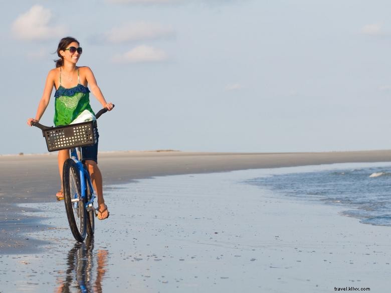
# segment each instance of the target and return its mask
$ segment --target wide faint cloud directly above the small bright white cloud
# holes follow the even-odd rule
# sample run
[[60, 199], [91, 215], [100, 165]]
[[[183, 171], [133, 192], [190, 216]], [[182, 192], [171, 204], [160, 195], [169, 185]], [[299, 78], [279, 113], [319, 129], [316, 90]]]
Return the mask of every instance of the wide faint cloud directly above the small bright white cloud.
[[111, 43], [154, 40], [172, 36], [174, 36], [172, 28], [144, 22], [123, 24], [104, 33], [104, 39]]

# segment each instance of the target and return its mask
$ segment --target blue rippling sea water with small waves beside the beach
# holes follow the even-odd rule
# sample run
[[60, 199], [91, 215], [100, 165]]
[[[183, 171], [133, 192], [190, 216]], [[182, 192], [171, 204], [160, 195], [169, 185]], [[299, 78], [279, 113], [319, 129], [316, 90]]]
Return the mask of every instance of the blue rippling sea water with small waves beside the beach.
[[313, 166], [309, 171], [302, 169], [244, 182], [297, 200], [342, 206], [346, 208], [343, 215], [364, 224], [391, 226], [390, 163], [334, 164]]

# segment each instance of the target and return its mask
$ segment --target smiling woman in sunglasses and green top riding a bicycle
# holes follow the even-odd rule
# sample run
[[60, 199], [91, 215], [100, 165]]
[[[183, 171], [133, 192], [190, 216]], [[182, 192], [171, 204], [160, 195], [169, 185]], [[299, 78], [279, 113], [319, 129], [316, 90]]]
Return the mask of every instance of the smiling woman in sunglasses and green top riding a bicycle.
[[[61, 39], [57, 48], [57, 55], [60, 59], [56, 60], [56, 68], [49, 71], [46, 79], [44, 93], [38, 105], [37, 114], [34, 118], [29, 118], [27, 124], [32, 126], [32, 122], [39, 122], [46, 108], [48, 107], [53, 87], [55, 93], [55, 126], [70, 124], [79, 114], [86, 111], [95, 115], [90, 106], [89, 93], [91, 92], [102, 104], [103, 108], [109, 111], [113, 109], [112, 103], [107, 103], [99, 89], [94, 74], [87, 66], [78, 67], [76, 63], [82, 54], [82, 48], [75, 38], [66, 37]], [[87, 112], [87, 113], [88, 113]], [[99, 134], [98, 134], [99, 137]], [[83, 147], [83, 159], [85, 160], [88, 171], [91, 175], [91, 181], [98, 197], [98, 218], [100, 220], [109, 217], [103, 198], [102, 175], [97, 165], [98, 142], [93, 146]], [[62, 173], [64, 162], [69, 158], [68, 150], [58, 152], [58, 166], [62, 182]], [[61, 184], [62, 185], [62, 184]], [[63, 187], [56, 194], [58, 200], [64, 198]]]

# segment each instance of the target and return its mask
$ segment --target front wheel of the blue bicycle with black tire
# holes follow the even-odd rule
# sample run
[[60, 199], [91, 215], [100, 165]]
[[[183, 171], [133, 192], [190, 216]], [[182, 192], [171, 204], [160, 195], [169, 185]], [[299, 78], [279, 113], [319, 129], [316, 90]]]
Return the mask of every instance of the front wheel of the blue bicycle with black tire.
[[[83, 242], [87, 233], [87, 214], [84, 206], [86, 198], [81, 197], [80, 173], [72, 159], [67, 159], [64, 163], [63, 186], [69, 227], [76, 241]], [[79, 201], [72, 202], [74, 198], [78, 198]]]

